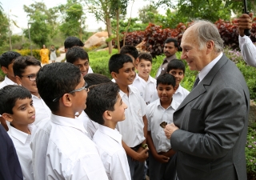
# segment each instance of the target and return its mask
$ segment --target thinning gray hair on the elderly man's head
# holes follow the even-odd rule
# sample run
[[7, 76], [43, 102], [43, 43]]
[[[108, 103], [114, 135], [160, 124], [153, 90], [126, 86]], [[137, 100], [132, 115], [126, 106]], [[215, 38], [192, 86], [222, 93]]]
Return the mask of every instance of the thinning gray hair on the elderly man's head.
[[218, 28], [212, 23], [204, 20], [197, 20], [193, 23], [195, 33], [198, 34], [199, 50], [206, 45], [206, 42], [214, 42], [214, 51], [220, 53], [223, 50], [223, 40], [218, 32]]

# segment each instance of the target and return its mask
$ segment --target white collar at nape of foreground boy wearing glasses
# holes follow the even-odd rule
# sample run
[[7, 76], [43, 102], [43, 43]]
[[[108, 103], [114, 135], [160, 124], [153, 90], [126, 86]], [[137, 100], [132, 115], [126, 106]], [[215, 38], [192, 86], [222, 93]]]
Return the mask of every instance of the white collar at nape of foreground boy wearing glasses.
[[58, 115], [51, 114], [50, 120], [54, 124], [58, 124], [61, 126], [70, 126], [75, 129], [81, 130], [83, 133], [87, 133], [86, 129], [83, 126], [82, 119], [80, 119], [80, 118], [66, 118], [64, 116], [58, 116]]

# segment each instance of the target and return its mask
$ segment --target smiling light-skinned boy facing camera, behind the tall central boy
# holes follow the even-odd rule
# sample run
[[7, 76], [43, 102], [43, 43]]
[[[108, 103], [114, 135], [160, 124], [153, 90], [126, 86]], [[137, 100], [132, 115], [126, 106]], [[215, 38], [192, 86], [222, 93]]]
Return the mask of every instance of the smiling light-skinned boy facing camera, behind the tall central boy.
[[134, 79], [133, 86], [138, 89], [146, 104], [154, 102], [154, 94], [158, 94], [156, 90], [157, 82], [150, 76], [152, 69], [152, 56], [148, 53], [141, 53], [136, 60], [136, 69], [138, 74]]

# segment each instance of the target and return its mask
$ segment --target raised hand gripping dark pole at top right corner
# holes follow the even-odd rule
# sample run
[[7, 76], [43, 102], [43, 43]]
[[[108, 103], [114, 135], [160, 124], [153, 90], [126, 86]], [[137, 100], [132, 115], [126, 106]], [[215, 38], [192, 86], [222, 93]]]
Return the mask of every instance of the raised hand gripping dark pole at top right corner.
[[244, 34], [244, 30], [248, 29], [250, 30], [252, 27], [252, 18], [253, 18], [252, 13], [250, 14], [242, 14], [239, 18], [238, 18], [238, 28], [239, 28], [239, 34], [241, 37], [243, 37]]

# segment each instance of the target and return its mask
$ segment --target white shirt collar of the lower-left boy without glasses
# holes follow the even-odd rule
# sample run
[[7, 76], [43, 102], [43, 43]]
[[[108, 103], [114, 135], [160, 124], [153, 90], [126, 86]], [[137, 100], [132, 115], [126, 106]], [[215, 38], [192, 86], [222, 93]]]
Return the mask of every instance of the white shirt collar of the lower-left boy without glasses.
[[[29, 125], [28, 126], [30, 129], [30, 133], [33, 134], [33, 128], [34, 125]], [[17, 130], [14, 126], [9, 126], [9, 130], [8, 132], [16, 139], [18, 139], [18, 141], [22, 142], [23, 144], [26, 143], [26, 139], [30, 138], [30, 134], [26, 134], [24, 132], [22, 132], [21, 130]]]

